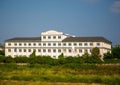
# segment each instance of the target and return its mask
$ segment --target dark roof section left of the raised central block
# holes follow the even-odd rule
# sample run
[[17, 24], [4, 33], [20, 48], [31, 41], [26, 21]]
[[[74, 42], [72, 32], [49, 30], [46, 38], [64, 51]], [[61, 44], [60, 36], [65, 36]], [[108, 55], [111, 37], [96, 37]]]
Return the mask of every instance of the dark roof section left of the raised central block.
[[41, 41], [41, 37], [16, 37], [6, 40], [6, 42], [11, 41]]

